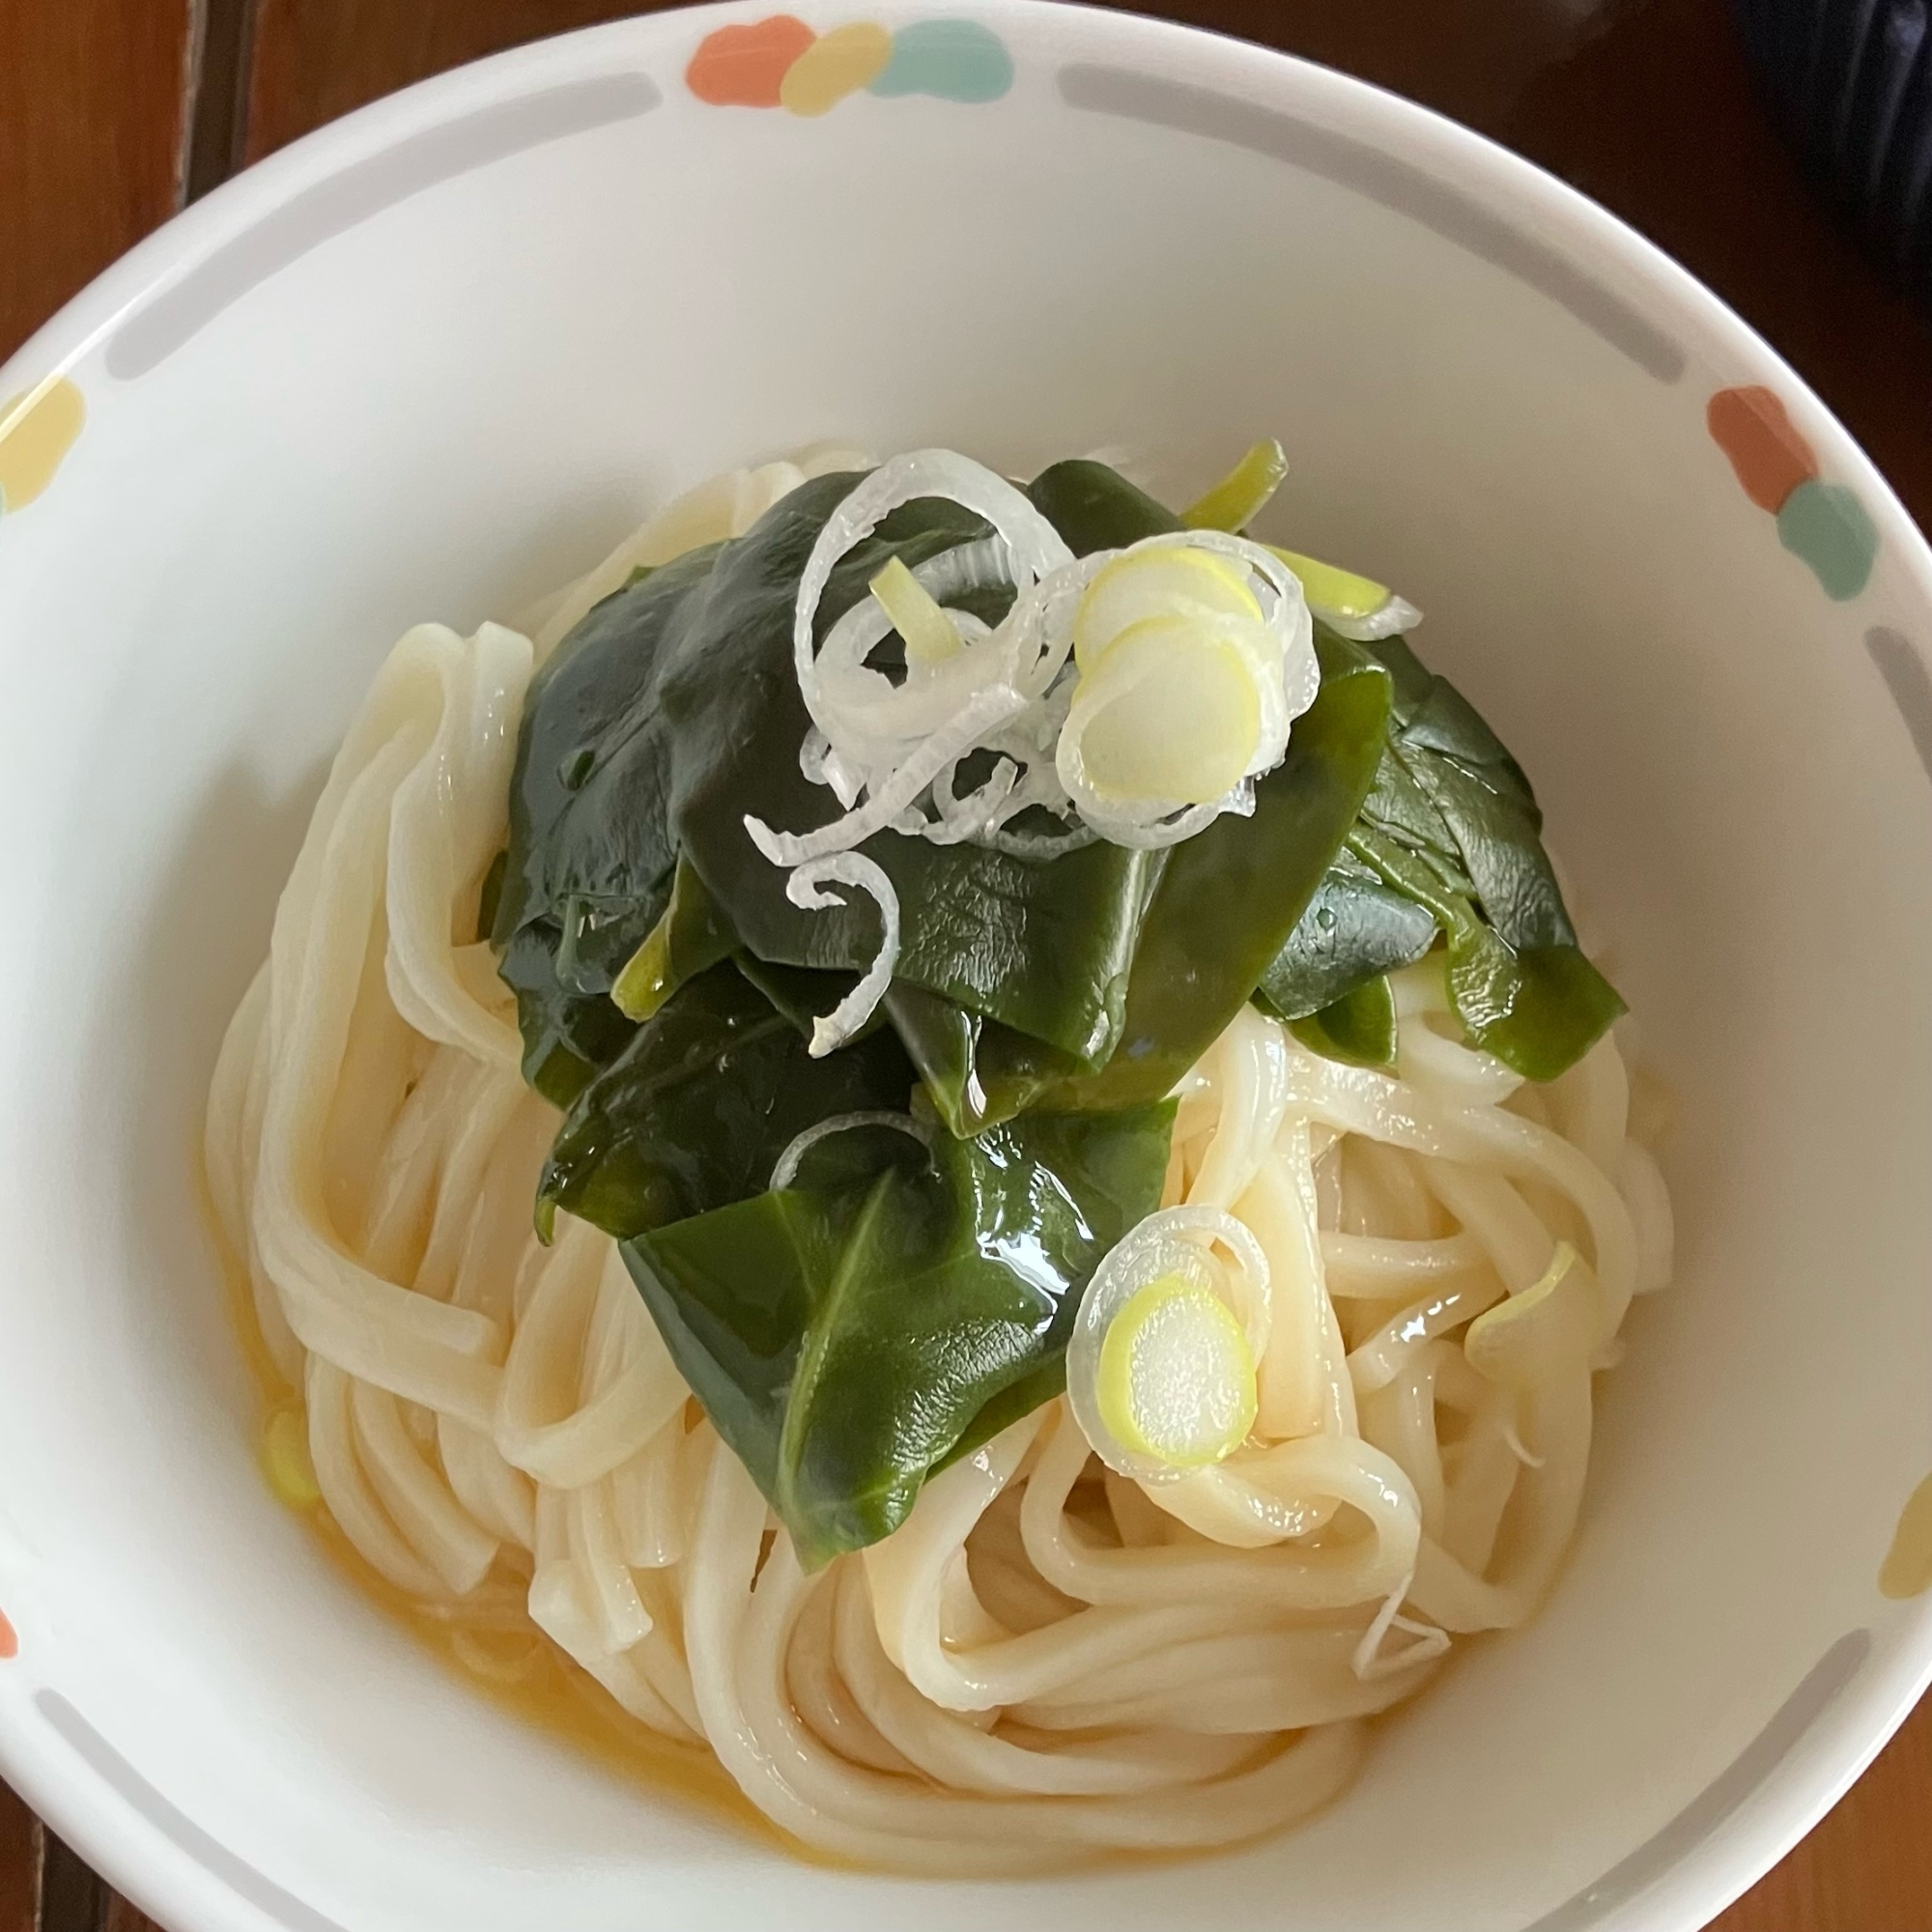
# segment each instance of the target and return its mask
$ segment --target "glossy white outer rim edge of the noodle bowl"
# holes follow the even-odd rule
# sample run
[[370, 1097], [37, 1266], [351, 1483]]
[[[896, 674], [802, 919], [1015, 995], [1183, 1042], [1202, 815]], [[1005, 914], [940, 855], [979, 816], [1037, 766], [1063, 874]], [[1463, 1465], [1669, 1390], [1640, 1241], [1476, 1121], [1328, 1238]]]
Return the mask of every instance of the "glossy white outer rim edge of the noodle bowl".
[[[583, 27], [468, 62], [355, 108], [247, 166], [135, 243], [0, 363], [0, 396], [68, 373], [224, 243], [354, 164], [466, 112], [520, 99], [545, 81], [638, 73], [645, 60], [663, 77], [667, 56], [682, 60], [699, 33], [763, 19], [781, 6], [782, 0], [709, 0]], [[1063, 60], [1111, 56], [1138, 60], [1161, 73], [1186, 66], [1190, 75], [1211, 77], [1233, 97], [1262, 108], [1318, 108], [1323, 126], [1347, 129], [1376, 151], [1401, 153], [1480, 205], [1513, 213], [1561, 257], [1615, 267], [1621, 284], [1640, 292], [1636, 307], [1663, 313], [1716, 346], [1721, 361], [1739, 371], [1737, 381], [1776, 390], [1824, 466], [1859, 495], [1893, 574], [1922, 609], [1932, 611], [1932, 547], [1857, 439], [1750, 323], [1580, 189], [1434, 108], [1227, 33], [1070, 0], [970, 0], [970, 8], [987, 25], [1012, 29], [1030, 44], [1051, 37]], [[875, 0], [869, 12], [896, 19], [922, 17], [927, 10], [916, 0]], [[1841, 1638], [1833, 1654], [1845, 1642]], [[1600, 1884], [1524, 1932], [1557, 1932], [1559, 1922], [1602, 1932], [1638, 1924], [1646, 1932], [1694, 1932], [1721, 1913], [1824, 1818], [1932, 1689], [1932, 1604], [1911, 1625], [1891, 1623], [1886, 1644], [1868, 1648], [1888, 1654], [1870, 1667], [1855, 1665], [1828, 1721], [1810, 1725], [1776, 1762], [1776, 1776], [1762, 1777], [1725, 1806], [1689, 1849], [1621, 1899], [1600, 1899], [1604, 1917], [1594, 1911], [1573, 1917], [1598, 1899]], [[1793, 1702], [1799, 1694], [1803, 1689]], [[95, 1870], [164, 1922], [286, 1932], [286, 1918], [263, 1911], [214, 1870], [170, 1845], [153, 1820], [139, 1816], [70, 1741], [52, 1735], [50, 1725], [17, 1721], [12, 1700], [0, 1700], [0, 1774]], [[174, 1810], [164, 1797], [160, 1803]], [[191, 1822], [182, 1822], [199, 1833]], [[269, 1889], [280, 1891], [272, 1884]], [[327, 1924], [313, 1909], [303, 1909], [303, 1920]]]

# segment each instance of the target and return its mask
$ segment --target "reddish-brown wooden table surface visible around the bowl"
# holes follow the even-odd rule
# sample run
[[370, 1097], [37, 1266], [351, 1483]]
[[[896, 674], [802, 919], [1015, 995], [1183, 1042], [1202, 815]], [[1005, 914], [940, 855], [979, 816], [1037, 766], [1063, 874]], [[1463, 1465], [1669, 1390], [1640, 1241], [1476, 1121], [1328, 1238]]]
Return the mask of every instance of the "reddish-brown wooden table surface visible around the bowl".
[[[0, 357], [238, 166], [427, 73], [632, 12], [643, 10], [0, 0]], [[1575, 182], [1762, 330], [1932, 524], [1932, 327], [1799, 178], [1723, 0], [1151, 0], [1144, 12], [1360, 73]], [[0, 1787], [0, 1932], [151, 1928]], [[1932, 1932], [1932, 1700], [1714, 1932]]]

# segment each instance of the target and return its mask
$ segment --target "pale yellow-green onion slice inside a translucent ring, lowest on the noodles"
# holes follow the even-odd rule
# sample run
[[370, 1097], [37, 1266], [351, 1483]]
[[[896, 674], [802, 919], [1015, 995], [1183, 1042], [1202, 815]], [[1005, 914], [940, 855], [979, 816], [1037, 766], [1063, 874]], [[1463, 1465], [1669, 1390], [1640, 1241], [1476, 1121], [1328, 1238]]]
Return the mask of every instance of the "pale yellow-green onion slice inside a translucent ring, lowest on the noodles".
[[1206, 1468], [1254, 1428], [1254, 1356], [1227, 1302], [1180, 1275], [1138, 1289], [1099, 1350], [1101, 1422], [1132, 1455]]

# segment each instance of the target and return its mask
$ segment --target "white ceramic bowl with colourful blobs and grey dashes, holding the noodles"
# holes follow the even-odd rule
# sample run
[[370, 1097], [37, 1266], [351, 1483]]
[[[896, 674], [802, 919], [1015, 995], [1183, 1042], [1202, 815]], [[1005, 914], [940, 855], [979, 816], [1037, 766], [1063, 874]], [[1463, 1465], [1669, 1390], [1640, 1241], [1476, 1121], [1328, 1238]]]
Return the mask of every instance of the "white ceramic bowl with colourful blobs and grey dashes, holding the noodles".
[[[1932, 1470], [1932, 556], [1748, 328], [1522, 162], [1248, 46], [966, 8], [881, 6], [889, 91], [819, 116], [694, 93], [779, 85], [757, 43], [690, 68], [736, 8], [446, 75], [0, 379], [39, 392], [0, 442], [0, 1770], [184, 1932], [1681, 1932], [1932, 1675], [1932, 1600], [1878, 1588]], [[1822, 479], [1719, 400], [1776, 524], [1708, 427], [1739, 386]], [[1036, 1886], [788, 1862], [469, 1694], [270, 1499], [193, 1194], [216, 1039], [406, 624], [817, 437], [1126, 444], [1182, 491], [1269, 431], [1279, 529], [1430, 612], [1613, 935], [1683, 1099], [1679, 1281], [1546, 1615], [1304, 1830]]]

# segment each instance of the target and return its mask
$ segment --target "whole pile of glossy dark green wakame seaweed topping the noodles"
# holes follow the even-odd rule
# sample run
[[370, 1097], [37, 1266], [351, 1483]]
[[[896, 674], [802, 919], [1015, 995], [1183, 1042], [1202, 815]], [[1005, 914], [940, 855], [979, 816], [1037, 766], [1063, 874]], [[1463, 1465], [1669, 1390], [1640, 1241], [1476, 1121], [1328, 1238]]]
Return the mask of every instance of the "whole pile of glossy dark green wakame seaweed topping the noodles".
[[[487, 895], [526, 1078], [566, 1109], [539, 1225], [562, 1208], [620, 1240], [806, 1563], [889, 1534], [933, 1468], [1061, 1389], [1086, 1281], [1159, 1202], [1165, 1095], [1244, 1001], [1387, 1066], [1387, 976], [1439, 949], [1468, 1037], [1534, 1078], [1621, 1012], [1495, 734], [1403, 639], [1318, 626], [1320, 694], [1252, 815], [1051, 860], [867, 838], [900, 902], [895, 980], [813, 1059], [879, 916], [862, 893], [794, 906], [744, 821], [838, 813], [798, 763], [792, 609], [856, 481], [806, 483], [564, 639], [531, 684]], [[1030, 495], [1076, 554], [1180, 527], [1095, 462]], [[951, 502], [895, 510], [833, 570], [819, 636], [887, 560], [980, 535]], [[989, 624], [1009, 603], [968, 599]]]

